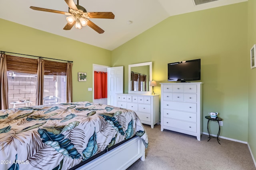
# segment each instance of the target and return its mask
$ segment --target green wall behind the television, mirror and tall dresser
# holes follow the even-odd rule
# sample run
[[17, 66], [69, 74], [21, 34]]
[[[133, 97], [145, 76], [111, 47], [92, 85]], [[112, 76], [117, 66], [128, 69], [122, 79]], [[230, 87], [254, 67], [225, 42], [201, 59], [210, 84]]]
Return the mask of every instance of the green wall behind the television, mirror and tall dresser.
[[[223, 119], [220, 135], [248, 140], [247, 2], [171, 16], [112, 51], [112, 65], [153, 62], [154, 88], [167, 81], [167, 63], [201, 59], [203, 132], [208, 112]], [[255, 69], [256, 70], [256, 69]], [[217, 123], [216, 123], [217, 125]], [[212, 133], [217, 126], [211, 124]], [[213, 129], [216, 129], [214, 131]]]

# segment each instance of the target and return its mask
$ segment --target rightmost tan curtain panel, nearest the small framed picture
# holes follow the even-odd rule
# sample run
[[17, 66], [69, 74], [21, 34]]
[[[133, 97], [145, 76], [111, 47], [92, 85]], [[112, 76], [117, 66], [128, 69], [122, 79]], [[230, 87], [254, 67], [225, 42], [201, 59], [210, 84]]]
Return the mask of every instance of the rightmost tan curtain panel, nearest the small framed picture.
[[72, 94], [73, 94], [73, 91], [72, 91], [72, 66], [73, 66], [73, 63], [67, 63], [67, 73], [66, 73], [66, 79], [67, 79], [67, 103], [70, 103], [73, 101], [73, 98], [72, 98]]

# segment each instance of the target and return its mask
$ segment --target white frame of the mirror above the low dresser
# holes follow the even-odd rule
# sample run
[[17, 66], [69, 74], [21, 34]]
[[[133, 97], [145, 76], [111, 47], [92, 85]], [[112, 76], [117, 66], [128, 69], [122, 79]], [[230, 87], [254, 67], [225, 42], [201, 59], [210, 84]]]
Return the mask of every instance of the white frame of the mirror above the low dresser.
[[152, 88], [149, 87], [149, 91], [131, 91], [131, 67], [137, 67], [137, 66], [149, 66], [149, 79], [148, 82], [152, 81], [152, 61], [146, 62], [146, 63], [138, 63], [138, 64], [130, 64], [128, 65], [128, 93], [131, 94], [151, 94]]

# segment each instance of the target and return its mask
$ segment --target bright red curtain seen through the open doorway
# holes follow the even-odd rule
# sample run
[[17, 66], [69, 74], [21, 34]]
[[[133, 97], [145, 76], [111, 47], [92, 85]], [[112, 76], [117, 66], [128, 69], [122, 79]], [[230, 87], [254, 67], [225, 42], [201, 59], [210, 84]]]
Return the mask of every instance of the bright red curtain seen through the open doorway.
[[108, 73], [94, 71], [94, 99], [108, 98]]

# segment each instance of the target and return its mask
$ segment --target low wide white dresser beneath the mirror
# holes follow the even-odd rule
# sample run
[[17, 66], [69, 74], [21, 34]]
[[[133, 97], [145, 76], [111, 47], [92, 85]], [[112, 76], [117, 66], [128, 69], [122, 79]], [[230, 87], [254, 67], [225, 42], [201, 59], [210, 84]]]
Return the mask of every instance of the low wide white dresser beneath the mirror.
[[151, 128], [159, 123], [159, 95], [117, 94], [117, 106], [135, 111], [141, 122]]

